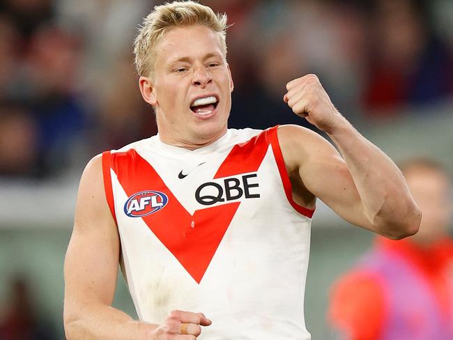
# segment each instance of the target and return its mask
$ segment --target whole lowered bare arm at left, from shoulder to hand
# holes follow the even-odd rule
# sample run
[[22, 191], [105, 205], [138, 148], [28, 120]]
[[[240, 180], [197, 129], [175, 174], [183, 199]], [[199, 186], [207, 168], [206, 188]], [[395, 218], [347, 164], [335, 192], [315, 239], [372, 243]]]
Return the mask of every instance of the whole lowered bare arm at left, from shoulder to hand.
[[[105, 198], [102, 160], [96, 156], [80, 181], [66, 253], [64, 325], [68, 340], [152, 340], [166, 339], [169, 334], [171, 339], [195, 339], [201, 332], [199, 324], [210, 324], [203, 314], [171, 311], [162, 325], [150, 325], [111, 307], [119, 249], [118, 230]], [[189, 324], [187, 333], [192, 335], [180, 335], [182, 323]]]

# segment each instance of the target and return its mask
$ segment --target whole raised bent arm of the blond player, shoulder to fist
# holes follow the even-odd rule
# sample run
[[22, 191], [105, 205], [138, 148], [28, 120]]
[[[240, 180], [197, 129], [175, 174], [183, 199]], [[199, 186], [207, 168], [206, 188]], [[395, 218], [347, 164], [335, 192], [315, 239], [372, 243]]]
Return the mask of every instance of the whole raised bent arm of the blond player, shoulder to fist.
[[317, 196], [348, 222], [388, 238], [416, 233], [422, 214], [392, 160], [339, 114], [315, 75], [286, 88], [284, 101], [294, 113], [326, 132], [341, 153], [307, 129], [280, 127], [295, 199], [310, 204]]

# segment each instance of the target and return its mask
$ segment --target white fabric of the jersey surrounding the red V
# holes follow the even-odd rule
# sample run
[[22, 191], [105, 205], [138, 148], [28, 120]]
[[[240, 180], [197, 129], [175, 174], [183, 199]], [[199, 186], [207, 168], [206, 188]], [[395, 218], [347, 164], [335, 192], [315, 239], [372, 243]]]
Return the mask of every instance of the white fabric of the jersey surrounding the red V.
[[[221, 183], [213, 177], [231, 148], [259, 133], [230, 129], [214, 144], [192, 151], [154, 136], [112, 153], [134, 148], [192, 214], [207, 208], [194, 199], [197, 187]], [[178, 178], [181, 171], [187, 175], [183, 179]], [[128, 195], [112, 171], [123, 272], [140, 320], [162, 323], [169, 311], [181, 309], [213, 320], [203, 327], [201, 340], [310, 339], [303, 305], [311, 219], [286, 198], [271, 146], [256, 175], [252, 182], [259, 187], [251, 191], [260, 197], [236, 200], [236, 215], [198, 284], [143, 219], [125, 215]], [[224, 203], [229, 202], [213, 206]]]

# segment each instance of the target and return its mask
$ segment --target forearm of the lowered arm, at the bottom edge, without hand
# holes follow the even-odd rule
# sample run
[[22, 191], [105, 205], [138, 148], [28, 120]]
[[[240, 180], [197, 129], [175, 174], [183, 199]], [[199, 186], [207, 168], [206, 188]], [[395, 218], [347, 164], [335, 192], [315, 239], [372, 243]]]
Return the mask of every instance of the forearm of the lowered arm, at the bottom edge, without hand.
[[157, 325], [140, 323], [123, 311], [102, 305], [65, 310], [65, 332], [68, 340], [145, 340]]

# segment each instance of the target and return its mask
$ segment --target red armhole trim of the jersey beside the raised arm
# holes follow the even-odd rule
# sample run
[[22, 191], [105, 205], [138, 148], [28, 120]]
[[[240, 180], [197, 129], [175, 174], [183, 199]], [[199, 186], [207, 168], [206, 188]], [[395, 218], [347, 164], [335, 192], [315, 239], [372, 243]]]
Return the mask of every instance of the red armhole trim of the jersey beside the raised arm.
[[280, 148], [280, 144], [278, 141], [277, 136], [277, 129], [278, 125], [271, 127], [270, 129], [266, 130], [268, 134], [268, 139], [270, 144], [272, 145], [272, 151], [274, 153], [275, 162], [277, 162], [277, 167], [280, 173], [280, 178], [282, 178], [282, 183], [284, 187], [284, 191], [286, 194], [286, 199], [288, 199], [291, 206], [300, 214], [307, 216], [309, 218], [313, 217], [314, 209], [305, 208], [304, 206], [300, 206], [298, 203], [295, 203], [293, 200], [293, 187], [291, 185], [291, 181], [289, 180], [288, 172], [286, 171], [286, 165], [282, 155], [282, 149]]

